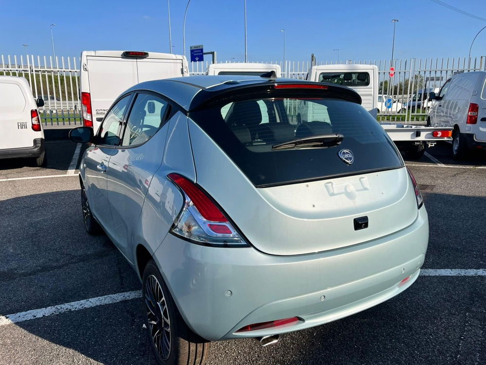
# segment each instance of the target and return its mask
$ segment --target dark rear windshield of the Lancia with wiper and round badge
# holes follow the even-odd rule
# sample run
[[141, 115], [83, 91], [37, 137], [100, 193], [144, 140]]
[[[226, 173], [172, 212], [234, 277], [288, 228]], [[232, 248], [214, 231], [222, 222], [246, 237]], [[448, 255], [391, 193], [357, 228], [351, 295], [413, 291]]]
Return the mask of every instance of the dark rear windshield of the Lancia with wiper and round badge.
[[[399, 168], [399, 152], [383, 128], [356, 103], [322, 97], [258, 98], [212, 103], [190, 118], [218, 144], [257, 187], [321, 180]], [[341, 134], [343, 139], [333, 140]], [[324, 136], [328, 146], [289, 144]], [[353, 161], [342, 150], [351, 151]], [[345, 161], [347, 160], [347, 161]], [[351, 162], [351, 164], [349, 164]]]

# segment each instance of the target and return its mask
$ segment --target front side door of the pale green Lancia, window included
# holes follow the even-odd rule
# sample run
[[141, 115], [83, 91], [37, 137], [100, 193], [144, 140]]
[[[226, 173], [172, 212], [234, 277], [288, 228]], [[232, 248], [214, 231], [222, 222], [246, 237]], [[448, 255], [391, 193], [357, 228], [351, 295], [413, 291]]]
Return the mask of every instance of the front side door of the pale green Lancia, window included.
[[106, 195], [107, 171], [111, 156], [118, 152], [115, 146], [120, 144], [119, 133], [131, 97], [122, 97], [106, 113], [95, 144], [87, 148], [83, 159], [91, 212], [110, 237], [113, 237], [113, 220]]

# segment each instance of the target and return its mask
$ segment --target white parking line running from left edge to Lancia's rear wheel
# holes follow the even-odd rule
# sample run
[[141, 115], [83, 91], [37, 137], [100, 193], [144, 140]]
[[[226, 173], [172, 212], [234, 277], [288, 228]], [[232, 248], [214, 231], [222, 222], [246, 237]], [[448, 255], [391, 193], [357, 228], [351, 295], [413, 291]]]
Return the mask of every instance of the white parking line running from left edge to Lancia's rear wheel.
[[25, 312], [0, 316], [0, 327], [9, 325], [11, 323], [28, 321], [29, 319], [34, 319], [34, 318], [47, 317], [54, 314], [68, 312], [71, 310], [80, 310], [80, 309], [102, 306], [104, 304], [118, 303], [124, 300], [140, 298], [141, 296], [142, 293], [139, 290], [137, 290], [134, 292], [124, 292], [118, 294], [98, 296], [96, 298], [79, 300], [77, 302], [60, 304], [57, 306], [52, 306], [47, 308], [27, 310]]

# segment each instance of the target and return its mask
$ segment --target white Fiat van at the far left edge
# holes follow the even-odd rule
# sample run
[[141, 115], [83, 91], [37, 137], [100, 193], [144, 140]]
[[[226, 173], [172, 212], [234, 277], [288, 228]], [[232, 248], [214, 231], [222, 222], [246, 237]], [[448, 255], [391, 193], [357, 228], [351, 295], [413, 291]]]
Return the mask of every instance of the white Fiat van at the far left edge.
[[38, 107], [23, 77], [0, 76], [0, 159], [30, 158], [36, 166], [46, 163], [44, 131]]

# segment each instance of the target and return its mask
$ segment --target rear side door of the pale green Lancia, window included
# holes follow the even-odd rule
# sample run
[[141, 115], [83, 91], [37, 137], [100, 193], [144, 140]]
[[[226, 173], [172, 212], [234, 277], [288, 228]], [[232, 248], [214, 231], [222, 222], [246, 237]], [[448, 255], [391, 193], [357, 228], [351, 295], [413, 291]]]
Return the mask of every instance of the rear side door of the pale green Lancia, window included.
[[133, 262], [131, 242], [143, 239], [140, 212], [152, 177], [162, 163], [172, 106], [162, 96], [139, 92], [121, 131], [121, 146], [112, 154], [107, 195], [115, 243]]

